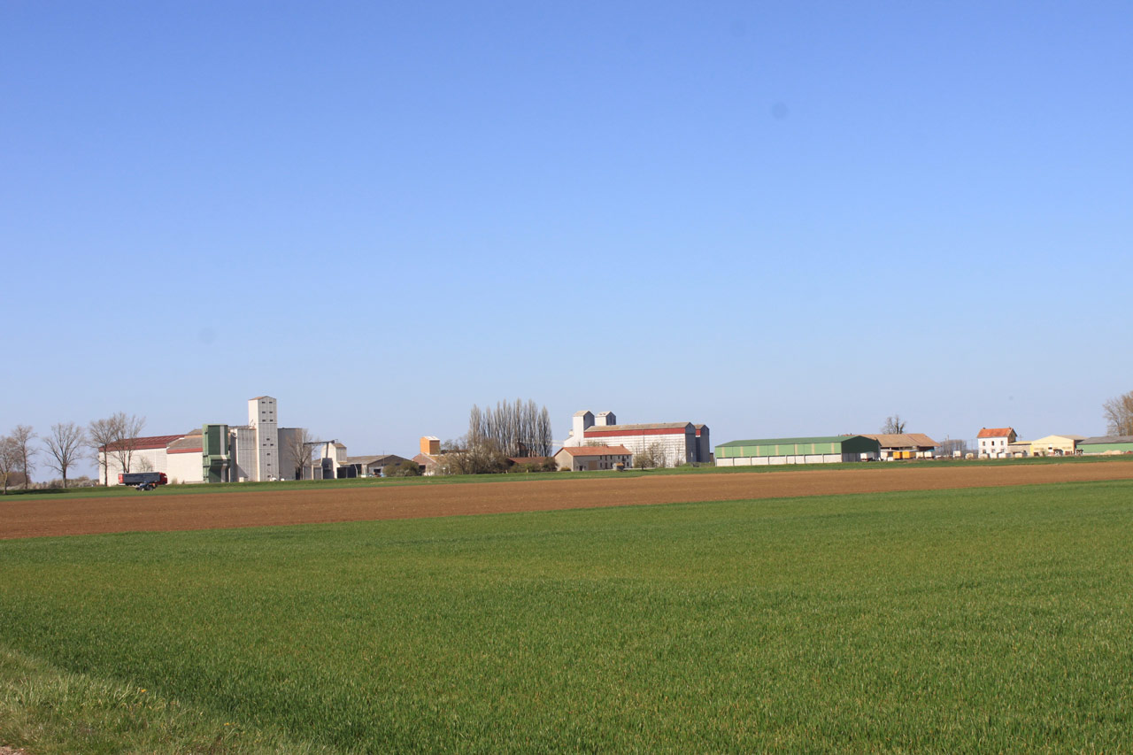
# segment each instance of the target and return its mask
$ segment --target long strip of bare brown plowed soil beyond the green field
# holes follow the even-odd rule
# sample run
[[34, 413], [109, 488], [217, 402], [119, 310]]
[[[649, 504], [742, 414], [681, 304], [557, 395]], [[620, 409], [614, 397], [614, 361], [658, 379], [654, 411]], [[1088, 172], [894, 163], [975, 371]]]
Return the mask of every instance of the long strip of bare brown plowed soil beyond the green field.
[[1133, 480], [1133, 464], [808, 469], [326, 490], [0, 499], [0, 538], [409, 519], [606, 506]]

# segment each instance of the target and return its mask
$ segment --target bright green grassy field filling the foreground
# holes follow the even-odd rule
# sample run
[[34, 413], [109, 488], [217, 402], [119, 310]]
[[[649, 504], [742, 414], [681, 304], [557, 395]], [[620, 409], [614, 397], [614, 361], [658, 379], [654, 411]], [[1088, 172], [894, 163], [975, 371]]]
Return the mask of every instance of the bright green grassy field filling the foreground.
[[0, 744], [1128, 752], [1131, 595], [1130, 482], [5, 541]]

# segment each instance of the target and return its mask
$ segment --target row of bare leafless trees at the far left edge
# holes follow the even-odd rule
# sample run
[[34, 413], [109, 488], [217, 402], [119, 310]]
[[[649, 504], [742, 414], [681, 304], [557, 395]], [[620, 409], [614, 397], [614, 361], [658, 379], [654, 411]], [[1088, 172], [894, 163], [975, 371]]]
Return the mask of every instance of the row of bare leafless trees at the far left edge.
[[[9, 481], [18, 478], [24, 490], [32, 484], [32, 473], [42, 458], [49, 469], [62, 477], [67, 487], [68, 473], [85, 458], [92, 458], [102, 470], [102, 484], [108, 483], [107, 467], [111, 459], [119, 468], [129, 472], [137, 439], [145, 427], [145, 417], [119, 412], [104, 419], [94, 419], [87, 426], [74, 422], [51, 425], [51, 432], [40, 436], [31, 425], [16, 425], [6, 435], [0, 435], [0, 482], [3, 493], [8, 493]], [[43, 441], [43, 447], [35, 444]], [[105, 448], [101, 457], [99, 449]]]

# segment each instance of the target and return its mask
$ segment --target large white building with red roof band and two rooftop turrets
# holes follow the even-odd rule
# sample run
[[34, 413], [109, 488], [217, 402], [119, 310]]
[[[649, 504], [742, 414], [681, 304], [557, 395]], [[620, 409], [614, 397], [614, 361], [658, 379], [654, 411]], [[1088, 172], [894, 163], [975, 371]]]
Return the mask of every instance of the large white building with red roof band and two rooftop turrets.
[[712, 461], [712, 444], [707, 425], [691, 422], [667, 422], [640, 425], [619, 425], [613, 412], [576, 412], [571, 419], [570, 435], [563, 448], [585, 447], [590, 443], [624, 446], [630, 453], [641, 453], [657, 446], [665, 466]]

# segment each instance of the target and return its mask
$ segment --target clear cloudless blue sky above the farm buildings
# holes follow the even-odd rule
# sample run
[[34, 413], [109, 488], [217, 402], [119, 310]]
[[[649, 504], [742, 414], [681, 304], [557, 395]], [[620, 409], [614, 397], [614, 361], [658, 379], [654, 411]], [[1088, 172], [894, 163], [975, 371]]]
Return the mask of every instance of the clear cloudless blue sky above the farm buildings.
[[[0, 5], [0, 430], [1099, 434], [1125, 2]], [[37, 476], [42, 477], [41, 472]]]

